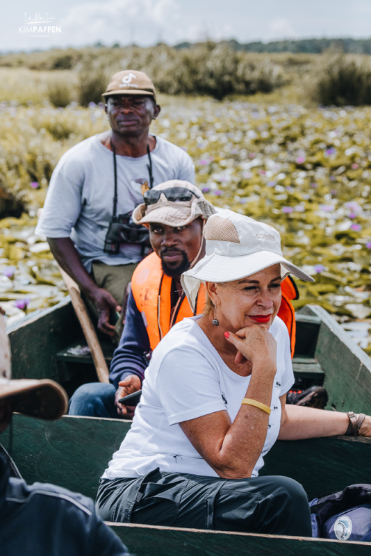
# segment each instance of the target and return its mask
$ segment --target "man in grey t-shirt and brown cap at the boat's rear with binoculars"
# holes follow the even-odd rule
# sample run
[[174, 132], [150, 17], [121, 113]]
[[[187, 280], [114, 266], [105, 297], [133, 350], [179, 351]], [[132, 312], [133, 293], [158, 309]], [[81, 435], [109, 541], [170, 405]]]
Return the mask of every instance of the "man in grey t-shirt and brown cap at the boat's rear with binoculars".
[[104, 250], [115, 210], [115, 166], [117, 217], [131, 213], [151, 186], [170, 179], [195, 183], [195, 166], [183, 149], [149, 134], [160, 106], [146, 74], [118, 72], [103, 96], [111, 131], [80, 142], [60, 158], [36, 233], [47, 236], [54, 257], [79, 284], [98, 328], [113, 336], [110, 311], [119, 310], [145, 254], [143, 244], [130, 243], [127, 235], [117, 252]]

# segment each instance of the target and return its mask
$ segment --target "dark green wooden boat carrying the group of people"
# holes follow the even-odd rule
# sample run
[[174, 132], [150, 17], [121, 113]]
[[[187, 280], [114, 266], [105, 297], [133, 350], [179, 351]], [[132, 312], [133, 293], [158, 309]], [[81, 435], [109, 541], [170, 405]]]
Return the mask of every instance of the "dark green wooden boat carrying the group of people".
[[[89, 354], [76, 354], [83, 334], [67, 297], [32, 313], [8, 329], [13, 377], [52, 378], [69, 393], [94, 376]], [[71, 351], [72, 346], [72, 351]], [[113, 347], [104, 346], [109, 363]], [[319, 306], [297, 313], [293, 361], [303, 387], [324, 384], [327, 409], [371, 413], [371, 359]], [[65, 416], [45, 423], [13, 418], [11, 453], [27, 482], [51, 482], [94, 498], [99, 477], [124, 439], [130, 421]], [[9, 448], [8, 432], [1, 442]], [[370, 482], [371, 439], [341, 436], [308, 441], [278, 441], [265, 457], [262, 475], [286, 475], [302, 483], [308, 498], [349, 484]], [[363, 556], [369, 543], [278, 537], [114, 523], [110, 526], [137, 556]]]

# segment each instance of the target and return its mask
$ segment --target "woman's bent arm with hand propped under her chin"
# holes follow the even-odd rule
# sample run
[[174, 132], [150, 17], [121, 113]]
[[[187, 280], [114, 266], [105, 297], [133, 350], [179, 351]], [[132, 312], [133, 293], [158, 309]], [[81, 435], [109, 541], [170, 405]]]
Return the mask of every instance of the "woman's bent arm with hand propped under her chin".
[[[229, 338], [252, 361], [252, 377], [245, 397], [270, 407], [277, 372], [277, 344], [265, 328], [252, 326], [245, 331], [243, 340], [235, 334]], [[265, 411], [243, 404], [233, 423], [226, 411], [215, 411], [179, 425], [199, 455], [220, 477], [240, 479], [252, 475], [263, 450], [268, 421]]]

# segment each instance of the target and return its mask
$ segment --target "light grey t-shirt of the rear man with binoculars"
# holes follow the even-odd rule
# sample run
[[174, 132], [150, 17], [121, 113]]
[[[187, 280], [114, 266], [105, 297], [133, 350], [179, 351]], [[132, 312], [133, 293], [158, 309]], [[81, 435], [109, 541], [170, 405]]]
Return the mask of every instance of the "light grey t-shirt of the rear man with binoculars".
[[[117, 215], [133, 211], [143, 200], [140, 190], [149, 182], [147, 154], [139, 158], [117, 155]], [[195, 165], [183, 149], [156, 137], [151, 151], [154, 186], [169, 179], [195, 183]], [[108, 265], [138, 263], [140, 245], [120, 245], [117, 255], [104, 253], [104, 239], [113, 215], [113, 153], [93, 136], [69, 149], [51, 176], [36, 234], [71, 237], [86, 270], [92, 261]]]

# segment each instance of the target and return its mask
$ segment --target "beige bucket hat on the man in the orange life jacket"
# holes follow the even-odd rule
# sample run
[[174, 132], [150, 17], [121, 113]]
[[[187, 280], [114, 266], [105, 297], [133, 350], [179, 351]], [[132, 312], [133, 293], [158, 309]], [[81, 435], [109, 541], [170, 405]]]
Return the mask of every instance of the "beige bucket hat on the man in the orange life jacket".
[[158, 222], [167, 226], [186, 226], [201, 216], [205, 220], [215, 213], [213, 205], [206, 201], [204, 194], [199, 188], [192, 185], [189, 181], [181, 179], [170, 179], [155, 186], [153, 190], [163, 191], [165, 189], [181, 187], [186, 188], [197, 197], [191, 201], [168, 201], [165, 195], [160, 195], [160, 199], [155, 204], [146, 205], [142, 203], [135, 208], [133, 212], [133, 221], [135, 224], [148, 225], [149, 222]]

